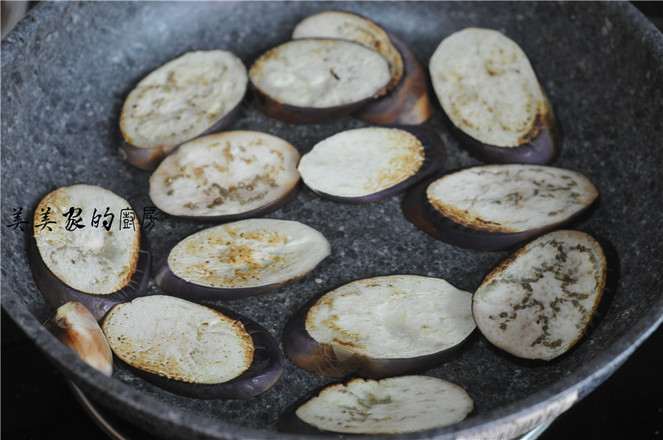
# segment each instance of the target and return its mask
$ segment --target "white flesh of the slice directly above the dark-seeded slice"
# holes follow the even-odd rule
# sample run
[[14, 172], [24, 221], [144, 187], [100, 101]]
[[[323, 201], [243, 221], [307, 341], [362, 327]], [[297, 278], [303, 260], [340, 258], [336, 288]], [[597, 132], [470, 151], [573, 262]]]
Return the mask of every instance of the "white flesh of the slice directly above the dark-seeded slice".
[[427, 199], [468, 228], [513, 233], [568, 221], [598, 197], [583, 174], [562, 168], [505, 164], [467, 168], [432, 182]]

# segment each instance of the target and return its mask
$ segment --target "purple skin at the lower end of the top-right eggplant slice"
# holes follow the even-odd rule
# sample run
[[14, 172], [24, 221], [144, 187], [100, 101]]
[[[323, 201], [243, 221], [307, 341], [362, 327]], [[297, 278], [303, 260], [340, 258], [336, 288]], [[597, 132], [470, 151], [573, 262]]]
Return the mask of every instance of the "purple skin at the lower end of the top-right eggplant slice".
[[[444, 112], [443, 112], [444, 113]], [[527, 138], [517, 147], [496, 147], [476, 140], [444, 115], [451, 132], [463, 147], [476, 159], [487, 163], [524, 163], [547, 165], [553, 163], [562, 150], [562, 129], [552, 106], [546, 114], [537, 114], [534, 126]]]

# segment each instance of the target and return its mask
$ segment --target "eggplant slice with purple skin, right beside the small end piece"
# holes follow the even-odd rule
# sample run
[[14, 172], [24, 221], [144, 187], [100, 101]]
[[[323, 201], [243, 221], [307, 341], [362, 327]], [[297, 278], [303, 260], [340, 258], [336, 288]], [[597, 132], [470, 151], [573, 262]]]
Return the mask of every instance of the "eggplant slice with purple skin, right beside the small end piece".
[[283, 373], [283, 356], [269, 331], [221, 307], [147, 296], [114, 307], [103, 330], [133, 371], [188, 397], [248, 399]]

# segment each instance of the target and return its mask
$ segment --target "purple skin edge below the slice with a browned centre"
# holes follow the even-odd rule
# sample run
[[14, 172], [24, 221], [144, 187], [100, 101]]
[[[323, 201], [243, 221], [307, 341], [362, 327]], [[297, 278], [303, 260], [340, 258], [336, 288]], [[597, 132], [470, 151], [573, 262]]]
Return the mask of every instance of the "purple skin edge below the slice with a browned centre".
[[[172, 248], [171, 248], [172, 250]], [[168, 266], [168, 256], [170, 250], [163, 255], [156, 264], [154, 270], [154, 281], [164, 292], [172, 296], [188, 299], [191, 301], [207, 301], [207, 300], [231, 300], [246, 298], [247, 296], [259, 295], [261, 293], [270, 292], [282, 285], [290, 282], [286, 280], [281, 283], [267, 284], [264, 286], [256, 287], [238, 287], [238, 288], [219, 288], [208, 287], [199, 284], [190, 283], [173, 273]]]

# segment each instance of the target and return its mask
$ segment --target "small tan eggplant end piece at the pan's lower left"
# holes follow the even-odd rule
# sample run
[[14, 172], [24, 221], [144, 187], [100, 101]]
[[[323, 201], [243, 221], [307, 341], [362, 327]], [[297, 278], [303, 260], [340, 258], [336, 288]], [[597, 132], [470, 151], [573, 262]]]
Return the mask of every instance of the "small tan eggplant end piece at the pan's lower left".
[[106, 376], [113, 374], [113, 353], [106, 336], [83, 304], [71, 301], [58, 307], [46, 327], [90, 366]]

